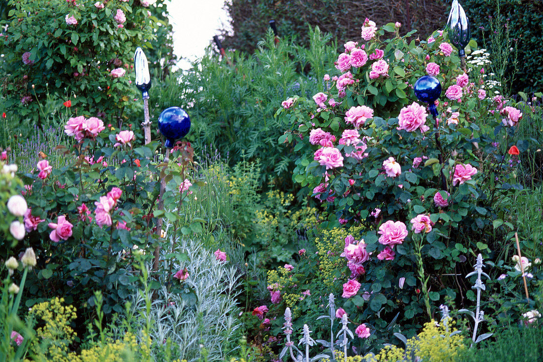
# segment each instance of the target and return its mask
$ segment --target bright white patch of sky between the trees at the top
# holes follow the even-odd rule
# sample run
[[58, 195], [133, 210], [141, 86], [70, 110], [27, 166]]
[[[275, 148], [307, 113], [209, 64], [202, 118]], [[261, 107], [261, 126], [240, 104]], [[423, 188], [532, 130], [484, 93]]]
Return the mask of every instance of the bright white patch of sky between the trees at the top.
[[[223, 7], [224, 0], [170, 0], [168, 12], [175, 55], [190, 60], [203, 56], [213, 35], [218, 35], [218, 29], [228, 24]], [[181, 60], [178, 66], [188, 69], [190, 63]]]

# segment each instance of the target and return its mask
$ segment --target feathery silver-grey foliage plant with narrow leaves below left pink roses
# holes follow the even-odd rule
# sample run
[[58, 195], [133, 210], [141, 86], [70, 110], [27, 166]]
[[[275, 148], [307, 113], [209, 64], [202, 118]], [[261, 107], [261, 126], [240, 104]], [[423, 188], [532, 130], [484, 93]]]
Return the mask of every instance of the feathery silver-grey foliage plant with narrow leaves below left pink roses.
[[[189, 276], [182, 283], [193, 291], [195, 300], [187, 302], [179, 293], [171, 293], [168, 281], [181, 282], [167, 275], [169, 268], [159, 270], [154, 277], [162, 287], [155, 292], [152, 302], [144, 291], [131, 296], [127, 311], [135, 316], [131, 327], [141, 330], [147, 325], [151, 339], [159, 341], [153, 348], [155, 360], [163, 354], [161, 350], [175, 346], [179, 354], [174, 357], [181, 360], [222, 361], [230, 352], [225, 351], [225, 346], [233, 345], [241, 327], [235, 290], [238, 273], [228, 262], [217, 261], [213, 252], [197, 240], [178, 238], [170, 243], [173, 248], [162, 248], [161, 259], [173, 262], [174, 271], [187, 268]], [[188, 255], [188, 260], [182, 264], [172, 261], [172, 254], [179, 253]], [[146, 265], [148, 270], [151, 267]], [[142, 312], [146, 310], [148, 313]], [[166, 343], [167, 339], [171, 343]]]

